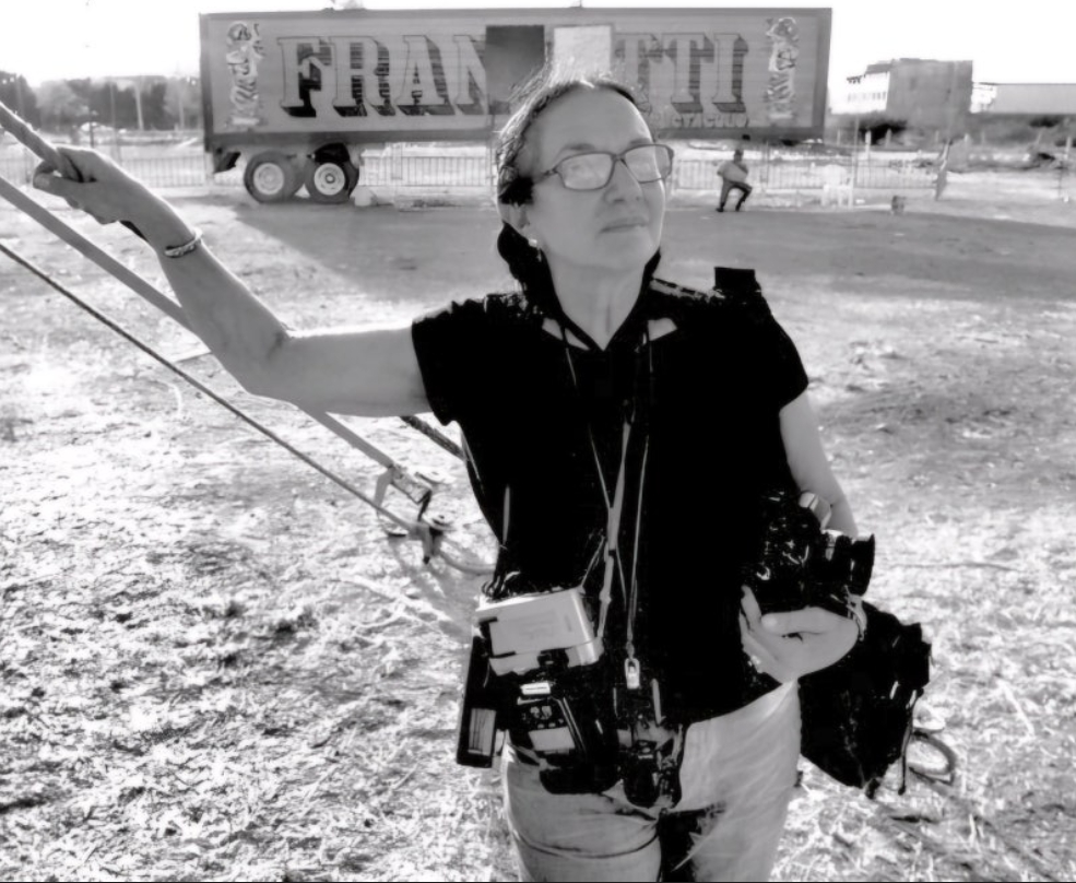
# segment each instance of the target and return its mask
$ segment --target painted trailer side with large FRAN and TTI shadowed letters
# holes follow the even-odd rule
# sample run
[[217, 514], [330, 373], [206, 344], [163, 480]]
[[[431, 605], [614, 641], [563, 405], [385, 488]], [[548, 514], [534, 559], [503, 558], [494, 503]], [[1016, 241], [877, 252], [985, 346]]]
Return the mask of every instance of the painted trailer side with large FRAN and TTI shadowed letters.
[[819, 137], [830, 22], [828, 9], [202, 15], [206, 148], [484, 140], [547, 58], [606, 57], [665, 137]]

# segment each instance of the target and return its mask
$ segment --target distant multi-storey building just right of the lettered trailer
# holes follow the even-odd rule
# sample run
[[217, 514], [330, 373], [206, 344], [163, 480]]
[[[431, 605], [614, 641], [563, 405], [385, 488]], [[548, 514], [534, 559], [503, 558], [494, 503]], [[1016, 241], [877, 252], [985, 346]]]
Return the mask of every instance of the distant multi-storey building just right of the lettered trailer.
[[910, 129], [955, 132], [971, 104], [972, 63], [898, 58], [868, 64], [832, 96], [838, 116], [885, 117]]

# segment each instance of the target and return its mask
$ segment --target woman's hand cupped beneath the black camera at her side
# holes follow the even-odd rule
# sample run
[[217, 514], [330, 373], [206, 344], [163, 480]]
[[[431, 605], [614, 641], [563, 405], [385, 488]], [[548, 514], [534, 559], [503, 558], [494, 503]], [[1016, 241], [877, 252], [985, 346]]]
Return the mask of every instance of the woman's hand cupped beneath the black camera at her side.
[[740, 613], [744, 651], [755, 668], [783, 682], [832, 666], [859, 638], [854, 620], [821, 608], [803, 608], [765, 616], [746, 586]]

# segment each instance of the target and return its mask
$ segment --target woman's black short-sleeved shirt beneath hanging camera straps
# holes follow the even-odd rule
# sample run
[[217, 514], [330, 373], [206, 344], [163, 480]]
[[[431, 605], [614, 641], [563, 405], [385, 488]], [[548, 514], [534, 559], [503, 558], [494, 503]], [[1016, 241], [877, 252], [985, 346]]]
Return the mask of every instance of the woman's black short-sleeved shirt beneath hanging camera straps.
[[[536, 587], [579, 585], [607, 523], [594, 448], [612, 493], [632, 413], [620, 548], [630, 569], [638, 529], [638, 652], [671, 718], [741, 707], [775, 685], [753, 676], [741, 648], [738, 568], [759, 493], [791, 482], [779, 412], [807, 386], [796, 349], [760, 294], [748, 303], [657, 281], [605, 350], [569, 350], [548, 318], [523, 294], [494, 294], [412, 331], [435, 415], [462, 429], [501, 564]], [[588, 593], [600, 585], [590, 579]], [[620, 587], [611, 646], [624, 635], [623, 599]]]

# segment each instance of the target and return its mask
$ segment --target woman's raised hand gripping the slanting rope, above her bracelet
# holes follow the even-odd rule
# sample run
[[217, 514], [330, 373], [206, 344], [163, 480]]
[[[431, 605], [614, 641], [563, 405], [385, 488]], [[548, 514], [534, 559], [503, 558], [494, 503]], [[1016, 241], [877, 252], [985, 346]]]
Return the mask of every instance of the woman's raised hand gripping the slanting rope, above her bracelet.
[[140, 228], [152, 228], [158, 217], [167, 216], [167, 203], [107, 156], [79, 148], [59, 151], [79, 179], [63, 177], [48, 163], [42, 163], [34, 169], [34, 187], [38, 190], [60, 197], [100, 224], [130, 221]]

